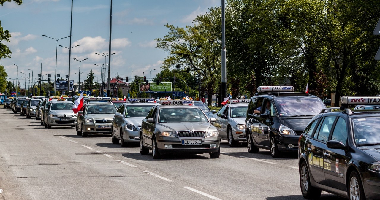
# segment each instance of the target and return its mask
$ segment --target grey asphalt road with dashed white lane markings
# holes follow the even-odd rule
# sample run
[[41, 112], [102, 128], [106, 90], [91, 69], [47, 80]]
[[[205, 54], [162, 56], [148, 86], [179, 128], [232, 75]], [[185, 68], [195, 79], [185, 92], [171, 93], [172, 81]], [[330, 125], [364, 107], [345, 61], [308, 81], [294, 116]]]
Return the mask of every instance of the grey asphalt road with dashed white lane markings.
[[[222, 140], [221, 146], [218, 159], [153, 160], [138, 144], [122, 148], [110, 135], [46, 129], [1, 108], [0, 199], [304, 199], [296, 154], [274, 159], [267, 150], [249, 154], [246, 143], [232, 148]], [[323, 192], [320, 199], [343, 198]]]

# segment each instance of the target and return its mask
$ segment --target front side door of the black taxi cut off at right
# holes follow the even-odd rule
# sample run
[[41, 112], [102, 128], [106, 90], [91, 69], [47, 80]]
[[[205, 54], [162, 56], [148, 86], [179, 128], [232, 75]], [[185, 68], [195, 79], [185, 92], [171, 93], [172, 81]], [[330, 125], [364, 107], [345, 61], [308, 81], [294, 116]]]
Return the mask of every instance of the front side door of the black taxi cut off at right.
[[[343, 117], [338, 117], [329, 140], [337, 140], [347, 145], [348, 128]], [[347, 163], [351, 158], [343, 149], [330, 149], [326, 146], [323, 155], [324, 172], [329, 187], [334, 187], [342, 191], [347, 191], [346, 174]]]

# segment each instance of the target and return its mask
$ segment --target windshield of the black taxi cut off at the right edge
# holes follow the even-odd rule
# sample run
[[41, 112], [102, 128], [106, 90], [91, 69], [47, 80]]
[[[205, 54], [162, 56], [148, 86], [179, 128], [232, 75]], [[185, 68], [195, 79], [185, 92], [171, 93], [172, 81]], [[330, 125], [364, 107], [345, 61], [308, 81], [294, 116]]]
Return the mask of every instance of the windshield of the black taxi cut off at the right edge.
[[380, 145], [380, 118], [362, 117], [352, 119], [354, 140], [359, 146]]

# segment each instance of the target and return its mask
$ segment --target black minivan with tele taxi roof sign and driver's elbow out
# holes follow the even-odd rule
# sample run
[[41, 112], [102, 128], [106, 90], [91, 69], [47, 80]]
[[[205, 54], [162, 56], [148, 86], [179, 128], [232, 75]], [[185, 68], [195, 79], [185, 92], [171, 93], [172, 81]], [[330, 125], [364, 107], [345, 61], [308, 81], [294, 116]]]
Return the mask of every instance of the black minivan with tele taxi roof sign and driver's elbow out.
[[272, 157], [296, 152], [299, 136], [325, 104], [317, 96], [293, 92], [293, 86], [260, 86], [257, 91], [245, 118], [248, 152], [268, 149]]

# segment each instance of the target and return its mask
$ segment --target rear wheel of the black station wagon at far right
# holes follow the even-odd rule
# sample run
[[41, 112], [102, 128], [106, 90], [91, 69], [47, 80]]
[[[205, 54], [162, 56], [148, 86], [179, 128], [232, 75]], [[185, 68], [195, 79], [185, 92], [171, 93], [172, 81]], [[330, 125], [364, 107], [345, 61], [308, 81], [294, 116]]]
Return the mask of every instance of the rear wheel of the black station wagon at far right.
[[318, 199], [321, 196], [321, 190], [310, 184], [310, 174], [306, 162], [302, 162], [299, 170], [299, 185], [301, 186], [302, 196], [306, 199]]

